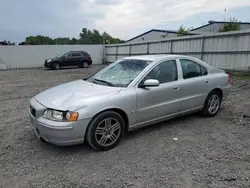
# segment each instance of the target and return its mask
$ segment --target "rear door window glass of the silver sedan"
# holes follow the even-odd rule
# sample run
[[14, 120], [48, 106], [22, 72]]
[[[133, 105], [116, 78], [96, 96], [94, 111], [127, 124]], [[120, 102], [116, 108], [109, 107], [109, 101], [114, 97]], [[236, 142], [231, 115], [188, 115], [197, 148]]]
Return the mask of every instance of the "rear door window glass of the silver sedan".
[[180, 59], [180, 63], [184, 79], [207, 75], [207, 70], [198, 63], [187, 59]]

